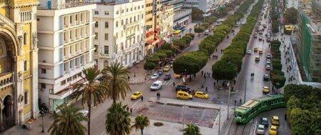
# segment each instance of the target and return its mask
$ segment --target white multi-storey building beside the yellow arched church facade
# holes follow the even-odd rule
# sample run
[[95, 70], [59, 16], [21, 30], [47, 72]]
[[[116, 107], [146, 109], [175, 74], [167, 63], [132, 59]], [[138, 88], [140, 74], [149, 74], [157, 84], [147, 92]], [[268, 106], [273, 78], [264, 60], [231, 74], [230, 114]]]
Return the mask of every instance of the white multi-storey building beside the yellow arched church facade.
[[41, 0], [37, 12], [39, 97], [51, 111], [68, 103], [71, 84], [94, 65], [92, 11], [96, 4]]

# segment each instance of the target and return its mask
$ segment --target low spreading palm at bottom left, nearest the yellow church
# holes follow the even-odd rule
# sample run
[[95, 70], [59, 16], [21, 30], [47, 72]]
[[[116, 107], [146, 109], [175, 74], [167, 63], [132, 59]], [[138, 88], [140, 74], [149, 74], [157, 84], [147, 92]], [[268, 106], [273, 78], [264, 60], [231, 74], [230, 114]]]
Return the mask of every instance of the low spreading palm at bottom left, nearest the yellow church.
[[88, 119], [79, 112], [80, 109], [73, 105], [67, 106], [66, 104], [58, 106], [58, 109], [61, 112], [51, 116], [54, 118], [54, 123], [51, 124], [48, 130], [51, 135], [86, 134], [86, 127], [81, 124], [81, 121], [87, 121]]

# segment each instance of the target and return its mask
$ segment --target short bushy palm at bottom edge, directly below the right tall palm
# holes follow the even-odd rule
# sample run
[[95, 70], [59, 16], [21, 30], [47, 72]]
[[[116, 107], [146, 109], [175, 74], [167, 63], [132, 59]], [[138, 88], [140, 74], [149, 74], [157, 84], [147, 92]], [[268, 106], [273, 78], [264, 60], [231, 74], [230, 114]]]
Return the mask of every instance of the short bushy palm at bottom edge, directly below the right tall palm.
[[120, 103], [112, 104], [106, 114], [106, 132], [111, 135], [125, 135], [131, 132], [131, 113], [126, 111], [127, 106]]

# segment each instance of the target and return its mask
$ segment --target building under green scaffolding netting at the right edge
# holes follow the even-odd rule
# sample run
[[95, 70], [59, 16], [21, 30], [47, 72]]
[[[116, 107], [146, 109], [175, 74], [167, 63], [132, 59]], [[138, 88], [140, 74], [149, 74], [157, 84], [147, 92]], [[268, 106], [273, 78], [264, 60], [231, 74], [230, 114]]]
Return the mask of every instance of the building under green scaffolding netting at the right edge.
[[[310, 5], [309, 5], [310, 4]], [[321, 4], [305, 3], [299, 9], [300, 63], [307, 81], [321, 82]]]

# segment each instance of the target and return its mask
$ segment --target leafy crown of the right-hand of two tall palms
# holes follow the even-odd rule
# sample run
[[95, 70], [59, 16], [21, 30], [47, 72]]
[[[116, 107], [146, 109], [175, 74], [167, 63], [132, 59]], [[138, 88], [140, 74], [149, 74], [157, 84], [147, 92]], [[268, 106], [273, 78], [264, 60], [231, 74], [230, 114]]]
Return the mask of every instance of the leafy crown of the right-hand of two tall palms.
[[103, 69], [103, 83], [106, 84], [108, 96], [113, 99], [113, 104], [120, 99], [125, 99], [128, 91], [131, 91], [129, 87], [129, 71], [120, 64], [118, 61], [111, 63]]

